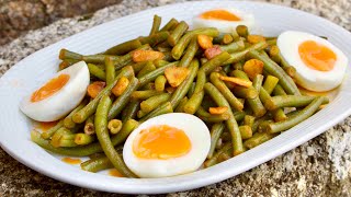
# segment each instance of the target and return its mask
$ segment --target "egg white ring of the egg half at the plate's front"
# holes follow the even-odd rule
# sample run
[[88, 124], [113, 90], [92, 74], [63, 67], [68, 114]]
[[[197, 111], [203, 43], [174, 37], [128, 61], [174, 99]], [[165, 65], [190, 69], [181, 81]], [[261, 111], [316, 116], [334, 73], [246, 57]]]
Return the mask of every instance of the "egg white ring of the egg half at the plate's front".
[[[182, 129], [191, 141], [190, 152], [167, 160], [137, 158], [133, 151], [133, 141], [143, 129], [157, 125]], [[129, 170], [139, 177], [174, 176], [196, 171], [206, 160], [210, 146], [210, 130], [200, 118], [190, 114], [171, 113], [148, 119], [135, 129], [124, 143], [123, 160]]]

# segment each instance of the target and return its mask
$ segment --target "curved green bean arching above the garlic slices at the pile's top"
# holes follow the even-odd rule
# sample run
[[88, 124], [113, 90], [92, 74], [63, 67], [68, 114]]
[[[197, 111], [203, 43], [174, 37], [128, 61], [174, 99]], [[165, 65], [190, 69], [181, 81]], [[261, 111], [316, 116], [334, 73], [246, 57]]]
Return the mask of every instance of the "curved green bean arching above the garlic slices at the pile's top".
[[184, 49], [191, 42], [191, 39], [199, 34], [216, 37], [218, 36], [219, 32], [217, 28], [210, 27], [210, 28], [197, 28], [197, 30], [185, 33], [172, 49], [173, 58], [177, 60], [180, 59], [181, 56], [183, 55]]

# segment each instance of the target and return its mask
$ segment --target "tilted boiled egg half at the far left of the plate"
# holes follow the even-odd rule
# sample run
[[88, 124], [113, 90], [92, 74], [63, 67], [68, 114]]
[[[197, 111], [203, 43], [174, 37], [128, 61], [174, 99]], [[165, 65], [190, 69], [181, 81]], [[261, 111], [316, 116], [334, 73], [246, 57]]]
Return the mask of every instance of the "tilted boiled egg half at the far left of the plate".
[[54, 121], [72, 111], [84, 97], [90, 82], [88, 66], [79, 61], [42, 84], [20, 104], [21, 111], [37, 121]]

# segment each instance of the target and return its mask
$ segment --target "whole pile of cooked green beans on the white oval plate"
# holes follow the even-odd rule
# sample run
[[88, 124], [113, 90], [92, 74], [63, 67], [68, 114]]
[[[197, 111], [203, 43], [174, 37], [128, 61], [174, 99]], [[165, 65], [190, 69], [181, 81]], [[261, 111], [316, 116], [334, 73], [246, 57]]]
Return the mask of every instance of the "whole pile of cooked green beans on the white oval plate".
[[[106, 86], [95, 97], [87, 94], [49, 130], [33, 130], [32, 140], [57, 154], [91, 157], [81, 163], [84, 171], [115, 167], [124, 176], [136, 177], [125, 165], [121, 149], [129, 134], [149, 118], [173, 112], [201, 118], [211, 130], [211, 149], [204, 163], [210, 167], [294, 127], [329, 102], [327, 97], [299, 93], [292, 79], [295, 70], [280, 55], [275, 39], [267, 37], [267, 42], [250, 44], [250, 32], [244, 25], [233, 34], [223, 34], [214, 27], [189, 31], [186, 22], [176, 19], [163, 27], [160, 24], [161, 18], [155, 15], [148, 36], [123, 42], [97, 55], [61, 49], [59, 70], [86, 61], [91, 83], [103, 81]], [[217, 56], [204, 58], [199, 35], [213, 38], [220, 50]], [[156, 50], [165, 58], [134, 62], [135, 50]], [[254, 78], [242, 69], [250, 59], [263, 63], [263, 72]], [[177, 88], [170, 86], [165, 73], [172, 67], [189, 71]], [[233, 84], [220, 76], [250, 81], [252, 85]], [[128, 84], [122, 94], [114, 95], [113, 89], [122, 78]], [[210, 107], [227, 111], [211, 114]], [[286, 108], [295, 111], [285, 114]]]

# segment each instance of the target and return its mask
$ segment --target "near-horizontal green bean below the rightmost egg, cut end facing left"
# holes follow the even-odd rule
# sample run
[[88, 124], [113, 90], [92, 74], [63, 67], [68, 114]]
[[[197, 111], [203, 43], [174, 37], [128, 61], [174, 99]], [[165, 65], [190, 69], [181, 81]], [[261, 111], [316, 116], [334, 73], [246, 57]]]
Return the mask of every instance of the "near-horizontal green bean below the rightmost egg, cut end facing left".
[[[269, 109], [273, 111], [281, 107], [303, 107], [313, 102], [315, 96], [305, 95], [279, 95], [273, 96], [272, 102], [267, 106]], [[328, 104], [328, 99], [322, 100], [322, 104]]]

